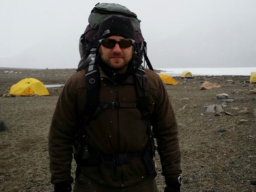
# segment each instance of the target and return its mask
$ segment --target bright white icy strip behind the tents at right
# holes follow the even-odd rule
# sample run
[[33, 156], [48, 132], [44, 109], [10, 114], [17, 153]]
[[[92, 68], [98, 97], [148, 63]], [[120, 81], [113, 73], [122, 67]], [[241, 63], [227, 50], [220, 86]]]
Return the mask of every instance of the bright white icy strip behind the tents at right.
[[171, 76], [180, 76], [180, 74], [188, 70], [193, 76], [196, 75], [245, 75], [250, 76], [251, 72], [256, 72], [256, 67], [231, 67], [231, 68], [156, 68], [163, 70], [164, 74]]

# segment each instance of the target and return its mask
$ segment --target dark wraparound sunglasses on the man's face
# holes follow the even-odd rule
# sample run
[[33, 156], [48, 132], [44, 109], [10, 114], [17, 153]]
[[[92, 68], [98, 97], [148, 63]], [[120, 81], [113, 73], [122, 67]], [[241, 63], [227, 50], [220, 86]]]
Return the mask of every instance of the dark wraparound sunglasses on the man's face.
[[132, 46], [133, 43], [135, 43], [132, 39], [101, 39], [99, 40], [100, 44], [106, 48], [114, 48], [116, 46], [116, 43], [118, 43], [120, 48], [128, 48]]

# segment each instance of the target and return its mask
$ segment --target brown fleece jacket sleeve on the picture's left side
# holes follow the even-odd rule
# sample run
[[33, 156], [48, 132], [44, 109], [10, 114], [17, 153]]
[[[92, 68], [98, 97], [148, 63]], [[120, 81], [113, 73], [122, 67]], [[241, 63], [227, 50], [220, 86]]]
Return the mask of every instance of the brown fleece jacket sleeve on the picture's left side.
[[48, 138], [51, 183], [72, 183], [72, 144], [78, 127], [76, 90], [71, 78], [67, 80], [58, 99]]

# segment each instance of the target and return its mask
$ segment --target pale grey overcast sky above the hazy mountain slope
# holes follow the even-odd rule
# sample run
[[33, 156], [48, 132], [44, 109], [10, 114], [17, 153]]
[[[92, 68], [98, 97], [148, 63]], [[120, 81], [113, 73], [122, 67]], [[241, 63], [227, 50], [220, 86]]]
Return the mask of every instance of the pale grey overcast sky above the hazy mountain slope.
[[[255, 30], [253, 21], [256, 17], [256, 0], [115, 0], [114, 2], [106, 0], [104, 2], [126, 6], [142, 20], [141, 30], [148, 43], [148, 56], [153, 61], [153, 66], [157, 63], [158, 57], [165, 60], [168, 58], [168, 55], [158, 53], [162, 44], [156, 45], [156, 42], [164, 40], [172, 44], [174, 40], [169, 41], [170, 38], [181, 38], [182, 34], [184, 34], [183, 39], [187, 39], [190, 33], [186, 29], [196, 30], [204, 24], [207, 28], [202, 27], [202, 30], [209, 30], [209, 28], [229, 26], [232, 22], [234, 22], [233, 26], [236, 26], [235, 22], [240, 24], [246, 22], [248, 27], [246, 29], [250, 30], [250, 26], [247, 25], [251, 24]], [[80, 60], [78, 40], [88, 25], [88, 16], [92, 8], [97, 3], [98, 1], [92, 0], [0, 0], [0, 67], [76, 68]], [[208, 20], [212, 24], [209, 24]], [[232, 30], [236, 29], [230, 28], [230, 36], [232, 34], [234, 36], [235, 31], [233, 33]], [[238, 35], [244, 34], [246, 33], [241, 32]], [[249, 39], [256, 39], [255, 35]], [[218, 39], [218, 36], [215, 38]], [[178, 45], [178, 42], [175, 43]], [[253, 53], [256, 55], [256, 44], [251, 46], [254, 46], [255, 50], [250, 52], [252, 48], [248, 49], [250, 58], [253, 57], [251, 56]], [[165, 44], [162, 49], [168, 52], [168, 47], [168, 44]], [[193, 51], [196, 50], [191, 50]], [[50, 52], [54, 52], [56, 57], [48, 56]], [[177, 63], [178, 58], [184, 57], [182, 54], [186, 53], [183, 50], [175, 53], [176, 58], [173, 61]], [[48, 57], [48, 60], [45, 57]], [[188, 62], [186, 61], [185, 64]], [[190, 67], [193, 67], [193, 64]], [[157, 63], [155, 68], [170, 68], [170, 66]]]

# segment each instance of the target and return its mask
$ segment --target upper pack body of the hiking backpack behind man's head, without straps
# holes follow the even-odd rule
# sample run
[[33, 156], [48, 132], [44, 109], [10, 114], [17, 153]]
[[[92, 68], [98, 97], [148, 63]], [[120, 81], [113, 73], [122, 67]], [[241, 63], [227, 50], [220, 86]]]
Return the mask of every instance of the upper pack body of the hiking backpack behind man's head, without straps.
[[100, 26], [100, 22], [110, 15], [116, 14], [121, 16], [129, 17], [132, 21], [134, 29], [136, 31], [135, 35], [135, 53], [140, 59], [144, 56], [144, 67], [145, 61], [150, 70], [154, 71], [152, 65], [147, 56], [147, 44], [144, 41], [140, 30], [140, 20], [137, 18], [137, 15], [131, 12], [125, 6], [114, 3], [98, 3], [92, 9], [91, 14], [89, 16], [89, 24], [86, 27], [86, 30], [81, 35], [79, 40], [79, 52], [80, 52], [80, 62], [78, 63], [77, 72], [80, 70], [84, 70], [90, 62], [94, 62], [97, 53], [98, 47], [98, 29]]

